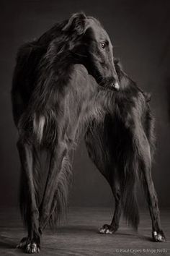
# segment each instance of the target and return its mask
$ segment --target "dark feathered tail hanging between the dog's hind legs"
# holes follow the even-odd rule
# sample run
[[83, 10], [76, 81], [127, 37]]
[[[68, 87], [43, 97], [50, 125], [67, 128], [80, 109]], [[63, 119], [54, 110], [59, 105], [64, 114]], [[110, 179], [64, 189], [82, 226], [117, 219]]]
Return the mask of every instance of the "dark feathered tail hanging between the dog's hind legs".
[[140, 221], [138, 202], [136, 200], [135, 184], [138, 170], [137, 159], [129, 158], [124, 165], [124, 171], [121, 177], [121, 197], [122, 208], [125, 220], [128, 224], [133, 226], [135, 230], [138, 229]]

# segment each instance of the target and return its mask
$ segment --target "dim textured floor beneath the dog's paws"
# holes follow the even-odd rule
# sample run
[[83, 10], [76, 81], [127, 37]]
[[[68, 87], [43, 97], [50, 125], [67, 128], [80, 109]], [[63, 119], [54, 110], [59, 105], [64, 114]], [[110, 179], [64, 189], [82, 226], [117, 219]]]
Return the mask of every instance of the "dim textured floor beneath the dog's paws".
[[[151, 241], [151, 221], [148, 212], [140, 213], [138, 234], [121, 221], [117, 233], [98, 234], [109, 223], [108, 208], [71, 208], [68, 222], [53, 232], [47, 229], [42, 239], [40, 255], [170, 255], [170, 210], [161, 210], [161, 222], [167, 241]], [[16, 249], [25, 235], [17, 209], [0, 210], [0, 255], [25, 255]]]

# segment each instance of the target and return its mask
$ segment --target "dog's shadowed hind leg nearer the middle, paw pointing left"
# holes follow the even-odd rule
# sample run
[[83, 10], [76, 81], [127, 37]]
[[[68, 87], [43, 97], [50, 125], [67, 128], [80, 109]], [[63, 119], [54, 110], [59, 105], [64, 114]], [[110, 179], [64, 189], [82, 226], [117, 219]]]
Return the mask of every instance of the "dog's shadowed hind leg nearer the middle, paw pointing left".
[[[93, 132], [92, 132], [93, 130]], [[104, 224], [99, 233], [113, 234], [119, 228], [120, 216], [122, 212], [120, 182], [117, 175], [117, 168], [113, 167], [109, 149], [105, 144], [102, 127], [97, 129], [88, 129], [85, 135], [86, 148], [91, 161], [97, 166], [98, 170], [107, 179], [113, 195], [115, 197], [115, 212], [110, 225]]]

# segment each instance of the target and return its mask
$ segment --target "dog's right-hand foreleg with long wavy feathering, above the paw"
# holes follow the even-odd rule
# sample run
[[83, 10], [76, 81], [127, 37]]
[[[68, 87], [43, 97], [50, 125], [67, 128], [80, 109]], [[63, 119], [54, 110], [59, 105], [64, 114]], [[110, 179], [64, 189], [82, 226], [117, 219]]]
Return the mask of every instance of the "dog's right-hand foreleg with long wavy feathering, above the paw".
[[40, 233], [66, 210], [68, 179], [71, 176], [66, 142], [58, 142], [51, 152], [50, 169], [40, 205]]

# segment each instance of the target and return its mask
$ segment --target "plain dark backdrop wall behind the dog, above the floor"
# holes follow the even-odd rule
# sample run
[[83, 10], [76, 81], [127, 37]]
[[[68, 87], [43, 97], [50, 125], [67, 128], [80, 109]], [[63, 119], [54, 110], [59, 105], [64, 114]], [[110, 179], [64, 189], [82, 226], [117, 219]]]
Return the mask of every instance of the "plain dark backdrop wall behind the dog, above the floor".
[[[10, 90], [17, 48], [74, 12], [97, 17], [110, 35], [115, 56], [138, 85], [152, 93], [158, 149], [153, 180], [162, 207], [170, 204], [170, 1], [1, 1], [0, 6], [0, 207], [17, 205], [19, 158]], [[84, 143], [76, 150], [71, 205], [111, 206], [107, 182], [89, 160]], [[143, 205], [143, 200], [140, 202]]]

